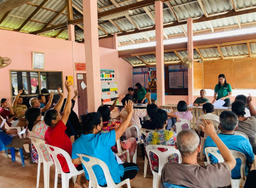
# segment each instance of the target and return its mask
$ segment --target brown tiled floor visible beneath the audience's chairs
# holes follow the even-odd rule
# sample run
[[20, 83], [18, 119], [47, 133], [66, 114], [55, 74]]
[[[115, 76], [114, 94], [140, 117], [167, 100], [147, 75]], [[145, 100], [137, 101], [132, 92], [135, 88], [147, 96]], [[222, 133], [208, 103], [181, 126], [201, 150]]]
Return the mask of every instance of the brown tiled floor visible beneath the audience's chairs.
[[[148, 166], [147, 177], [143, 177], [143, 165], [144, 161], [139, 154], [137, 156], [137, 165], [139, 166], [139, 173], [135, 177], [131, 186], [133, 188], [152, 188], [153, 175]], [[30, 164], [30, 158], [25, 160], [25, 167], [22, 167], [19, 152], [16, 152], [16, 161], [11, 162], [11, 155], [8, 158], [5, 157], [5, 152], [0, 152], [0, 187], [1, 188], [20, 188], [20, 187], [36, 187], [36, 175], [37, 164]], [[200, 163], [202, 163], [200, 161]], [[44, 187], [43, 182], [43, 167], [41, 164], [40, 171], [40, 184], [39, 187]], [[55, 167], [54, 165], [50, 170], [50, 187], [54, 187]], [[83, 177], [84, 179], [84, 177]], [[58, 183], [58, 187], [61, 187], [61, 183]], [[73, 187], [73, 183], [69, 181], [69, 187]]]

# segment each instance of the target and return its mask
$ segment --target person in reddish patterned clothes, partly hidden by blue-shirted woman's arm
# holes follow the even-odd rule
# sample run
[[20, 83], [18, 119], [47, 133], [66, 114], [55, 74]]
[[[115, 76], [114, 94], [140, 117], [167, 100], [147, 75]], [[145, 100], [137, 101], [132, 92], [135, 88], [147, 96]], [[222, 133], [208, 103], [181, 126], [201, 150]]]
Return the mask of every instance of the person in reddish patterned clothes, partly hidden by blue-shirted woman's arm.
[[[119, 128], [119, 126], [121, 126], [121, 122], [110, 118], [110, 110], [107, 105], [102, 105], [98, 107], [97, 112], [100, 113], [100, 115], [102, 116], [103, 131], [115, 130], [116, 128]], [[131, 124], [129, 125], [131, 126]], [[121, 141], [120, 144], [123, 150], [129, 150], [130, 155], [133, 155], [135, 153], [135, 150], [137, 148], [137, 142], [135, 138], [128, 138], [127, 140]], [[113, 146], [113, 151], [117, 153], [117, 146]], [[125, 161], [125, 158], [127, 158], [127, 156], [126, 154], [122, 154], [121, 156], [119, 156], [119, 158]]]

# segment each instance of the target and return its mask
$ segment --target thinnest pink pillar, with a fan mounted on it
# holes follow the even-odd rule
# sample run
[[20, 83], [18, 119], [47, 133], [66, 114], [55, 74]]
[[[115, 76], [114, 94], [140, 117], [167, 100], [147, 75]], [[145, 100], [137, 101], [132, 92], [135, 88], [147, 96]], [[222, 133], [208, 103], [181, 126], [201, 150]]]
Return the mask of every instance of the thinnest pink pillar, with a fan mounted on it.
[[[187, 19], [187, 54], [190, 58], [194, 58], [193, 53], [193, 19], [189, 17]], [[192, 63], [191, 68], [189, 68], [188, 73], [188, 87], [189, 87], [189, 104], [194, 102], [193, 95], [194, 95], [194, 64]]]

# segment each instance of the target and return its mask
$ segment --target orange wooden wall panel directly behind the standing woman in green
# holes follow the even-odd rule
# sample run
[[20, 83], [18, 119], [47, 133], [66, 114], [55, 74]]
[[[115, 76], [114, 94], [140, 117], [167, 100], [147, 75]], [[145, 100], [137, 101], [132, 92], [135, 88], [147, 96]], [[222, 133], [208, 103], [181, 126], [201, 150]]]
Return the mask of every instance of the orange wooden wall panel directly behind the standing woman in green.
[[214, 89], [218, 84], [218, 76], [224, 74], [226, 81], [234, 88], [233, 60], [211, 60], [203, 62], [203, 88]]

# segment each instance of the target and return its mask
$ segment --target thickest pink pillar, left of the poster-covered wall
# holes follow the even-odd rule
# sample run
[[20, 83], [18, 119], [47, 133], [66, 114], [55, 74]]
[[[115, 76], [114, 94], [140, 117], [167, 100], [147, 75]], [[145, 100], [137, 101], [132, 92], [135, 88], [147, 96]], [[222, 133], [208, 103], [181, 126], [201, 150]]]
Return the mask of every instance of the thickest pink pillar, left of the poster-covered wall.
[[[88, 111], [97, 111], [101, 105], [100, 48], [98, 44], [97, 1], [83, 0], [84, 44], [86, 47], [86, 80]], [[86, 113], [86, 111], [85, 111]]]

